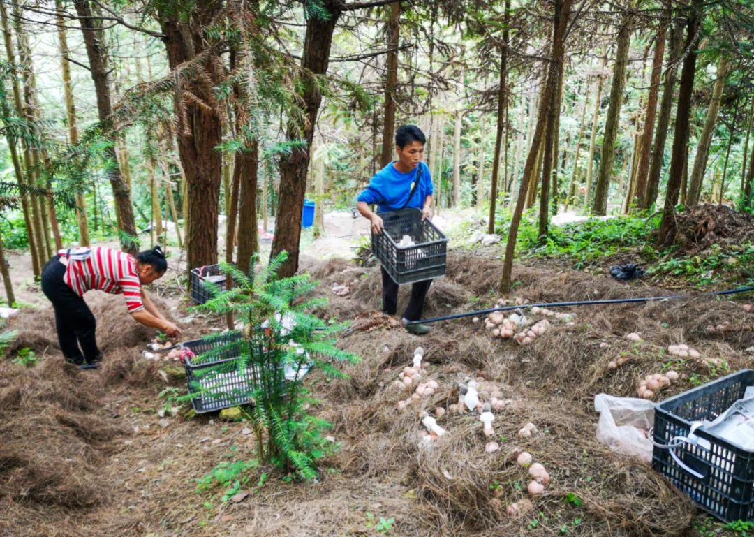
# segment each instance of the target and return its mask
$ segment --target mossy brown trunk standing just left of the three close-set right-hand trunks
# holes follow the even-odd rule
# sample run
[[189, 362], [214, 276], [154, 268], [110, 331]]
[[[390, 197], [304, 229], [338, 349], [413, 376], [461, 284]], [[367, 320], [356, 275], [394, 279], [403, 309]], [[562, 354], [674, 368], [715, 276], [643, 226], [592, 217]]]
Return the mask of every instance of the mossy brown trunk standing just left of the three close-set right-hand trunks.
[[618, 122], [621, 119], [621, 104], [626, 83], [626, 65], [628, 50], [631, 44], [631, 27], [633, 17], [626, 13], [618, 31], [618, 52], [615, 55], [615, 69], [610, 88], [610, 104], [605, 117], [605, 134], [602, 137], [602, 153], [599, 157], [597, 170], [597, 185], [594, 192], [592, 212], [604, 215], [608, 210], [608, 193], [610, 190], [610, 176], [613, 173], [615, 160], [615, 140], [618, 137]]

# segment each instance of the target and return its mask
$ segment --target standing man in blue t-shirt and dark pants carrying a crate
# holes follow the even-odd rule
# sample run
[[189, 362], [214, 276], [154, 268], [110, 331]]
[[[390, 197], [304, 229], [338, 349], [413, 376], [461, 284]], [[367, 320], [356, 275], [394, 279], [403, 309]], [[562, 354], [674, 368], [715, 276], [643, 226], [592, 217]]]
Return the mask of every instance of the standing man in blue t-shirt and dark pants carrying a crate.
[[[427, 164], [421, 161], [424, 156], [426, 138], [416, 125], [402, 125], [395, 132], [395, 150], [398, 156], [379, 172], [375, 173], [369, 186], [361, 192], [356, 207], [369, 222], [372, 233], [382, 233], [384, 228], [379, 213], [411, 207], [421, 210], [421, 218], [432, 218], [432, 176]], [[421, 173], [418, 170], [421, 169]], [[416, 183], [418, 175], [418, 184]], [[412, 193], [413, 192], [413, 193]], [[373, 213], [369, 205], [376, 204], [379, 213]], [[403, 313], [403, 322], [418, 321], [424, 311], [425, 298], [432, 284], [431, 280], [412, 284], [411, 299]], [[382, 311], [395, 315], [398, 308], [398, 284], [382, 268]], [[410, 324], [406, 327], [419, 336], [430, 331], [426, 324]]]

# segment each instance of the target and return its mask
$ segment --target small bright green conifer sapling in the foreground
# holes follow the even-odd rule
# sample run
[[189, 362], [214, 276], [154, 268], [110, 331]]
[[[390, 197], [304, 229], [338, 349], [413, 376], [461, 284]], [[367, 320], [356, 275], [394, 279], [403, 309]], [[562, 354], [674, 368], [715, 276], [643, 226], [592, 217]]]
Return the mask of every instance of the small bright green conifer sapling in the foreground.
[[[233, 367], [239, 376], [250, 373], [252, 379], [247, 396], [253, 400], [253, 407], [247, 417], [256, 434], [259, 459], [309, 480], [317, 476], [317, 459], [330, 453], [336, 444], [323, 436], [330, 424], [307, 411], [316, 401], [309, 396], [304, 373], [318, 369], [326, 376], [342, 378], [345, 375], [339, 365], [357, 362], [359, 357], [335, 346], [334, 336], [344, 325], [328, 324], [310, 313], [327, 301], [307, 298], [316, 287], [309, 275], [277, 278], [285, 259], [287, 253], [280, 253], [256, 274], [256, 256], [249, 274], [220, 264], [234, 287], [222, 290], [206, 284], [212, 298], [197, 308], [221, 315], [231, 313], [243, 329], [238, 339], [198, 360], [216, 360], [228, 351], [238, 356]], [[203, 397], [228, 396], [218, 393], [212, 382], [197, 382], [195, 390]]]

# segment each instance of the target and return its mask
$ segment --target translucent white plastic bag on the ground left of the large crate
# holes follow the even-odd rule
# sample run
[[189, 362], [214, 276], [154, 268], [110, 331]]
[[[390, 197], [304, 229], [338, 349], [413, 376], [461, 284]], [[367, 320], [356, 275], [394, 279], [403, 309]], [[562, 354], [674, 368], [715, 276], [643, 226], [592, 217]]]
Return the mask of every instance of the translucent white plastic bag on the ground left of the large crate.
[[599, 413], [596, 434], [599, 443], [604, 443], [616, 453], [651, 462], [652, 441], [648, 431], [654, 426], [654, 403], [597, 394], [594, 397], [594, 410]]

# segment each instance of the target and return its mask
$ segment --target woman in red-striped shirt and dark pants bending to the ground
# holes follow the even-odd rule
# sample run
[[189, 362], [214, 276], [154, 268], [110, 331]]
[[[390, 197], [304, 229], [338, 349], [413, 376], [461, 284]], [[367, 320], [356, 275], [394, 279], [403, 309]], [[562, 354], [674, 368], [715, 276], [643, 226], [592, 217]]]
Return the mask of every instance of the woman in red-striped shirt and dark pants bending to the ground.
[[165, 254], [158, 246], [136, 257], [112, 248], [81, 247], [60, 250], [50, 259], [42, 272], [41, 287], [55, 310], [57, 338], [66, 361], [93, 369], [102, 359], [95, 337], [97, 322], [83, 298], [93, 289], [122, 293], [136, 321], [170, 337], [179, 335], [181, 330], [162, 316], [142, 287], [161, 278], [166, 270]]

